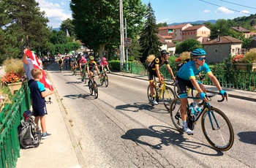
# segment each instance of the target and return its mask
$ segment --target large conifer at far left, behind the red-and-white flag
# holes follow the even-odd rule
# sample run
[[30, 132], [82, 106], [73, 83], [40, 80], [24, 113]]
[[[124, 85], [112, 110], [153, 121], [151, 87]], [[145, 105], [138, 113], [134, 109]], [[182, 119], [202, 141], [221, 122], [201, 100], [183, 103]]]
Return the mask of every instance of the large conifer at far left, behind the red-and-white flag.
[[39, 11], [39, 4], [35, 0], [0, 2], [0, 24], [4, 27], [1, 34], [8, 37], [5, 38], [5, 51], [1, 50], [2, 56], [15, 57], [22, 52], [23, 47], [36, 49], [47, 44], [50, 33], [47, 26], [49, 20], [44, 17], [45, 12]]

